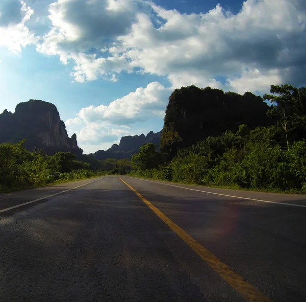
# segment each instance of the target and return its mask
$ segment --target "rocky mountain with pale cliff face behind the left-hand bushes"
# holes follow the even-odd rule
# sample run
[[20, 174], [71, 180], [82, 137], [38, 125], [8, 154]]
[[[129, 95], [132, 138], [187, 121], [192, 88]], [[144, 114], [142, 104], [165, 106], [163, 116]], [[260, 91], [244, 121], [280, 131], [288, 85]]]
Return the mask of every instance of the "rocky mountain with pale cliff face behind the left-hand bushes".
[[19, 103], [14, 113], [4, 110], [0, 114], [0, 143], [17, 143], [23, 139], [27, 140], [24, 146], [28, 150], [82, 154], [77, 135], [68, 136], [56, 106], [41, 100]]

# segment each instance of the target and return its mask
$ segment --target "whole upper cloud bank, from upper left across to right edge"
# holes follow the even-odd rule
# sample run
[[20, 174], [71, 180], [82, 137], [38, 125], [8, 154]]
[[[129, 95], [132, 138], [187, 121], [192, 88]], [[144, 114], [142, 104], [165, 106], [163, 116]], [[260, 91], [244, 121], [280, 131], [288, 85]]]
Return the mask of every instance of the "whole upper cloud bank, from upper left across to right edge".
[[302, 0], [247, 0], [237, 14], [220, 5], [182, 14], [146, 1], [58, 0], [48, 17], [52, 28], [37, 49], [73, 61], [79, 82], [137, 71], [166, 76], [172, 88], [265, 92], [267, 80], [281, 83], [306, 68]]

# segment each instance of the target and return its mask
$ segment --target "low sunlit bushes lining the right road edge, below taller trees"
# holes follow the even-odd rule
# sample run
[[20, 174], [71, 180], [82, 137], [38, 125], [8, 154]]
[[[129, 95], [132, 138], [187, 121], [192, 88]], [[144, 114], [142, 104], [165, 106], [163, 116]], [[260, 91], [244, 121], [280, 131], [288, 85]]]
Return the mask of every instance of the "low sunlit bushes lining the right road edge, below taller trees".
[[[238, 144], [232, 135], [232, 147], [223, 147], [224, 152], [214, 156], [212, 145], [197, 144], [179, 150], [168, 166], [133, 170], [130, 175], [237, 189], [306, 192], [306, 142], [294, 142], [287, 150], [270, 140], [270, 136], [267, 140], [260, 136], [259, 141], [251, 136], [251, 140], [244, 138], [243, 144]], [[241, 136], [238, 138], [241, 140]], [[222, 143], [221, 138], [215, 140], [218, 141]], [[201, 148], [209, 148], [209, 152]]]

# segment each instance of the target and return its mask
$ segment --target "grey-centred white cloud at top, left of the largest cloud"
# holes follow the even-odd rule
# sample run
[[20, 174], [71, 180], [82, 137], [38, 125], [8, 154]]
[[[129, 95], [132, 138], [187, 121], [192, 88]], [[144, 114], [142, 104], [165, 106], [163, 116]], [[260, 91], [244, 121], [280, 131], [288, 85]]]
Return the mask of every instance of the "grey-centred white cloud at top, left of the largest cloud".
[[[131, 0], [58, 0], [49, 6], [52, 29], [42, 37], [37, 50], [58, 55], [62, 63], [74, 61], [75, 81], [99, 76], [116, 81], [115, 73], [131, 67], [124, 56], [108, 56], [114, 40], [132, 26], [136, 6]], [[82, 20], [82, 21], [81, 21]]]

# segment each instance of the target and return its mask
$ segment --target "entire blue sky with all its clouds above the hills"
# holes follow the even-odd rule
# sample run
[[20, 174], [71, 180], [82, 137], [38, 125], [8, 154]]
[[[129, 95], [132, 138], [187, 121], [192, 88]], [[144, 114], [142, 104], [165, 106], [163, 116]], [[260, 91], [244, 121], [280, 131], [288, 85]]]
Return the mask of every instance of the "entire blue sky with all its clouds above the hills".
[[303, 0], [2, 0], [0, 111], [54, 103], [85, 153], [159, 131], [175, 88], [304, 86]]

